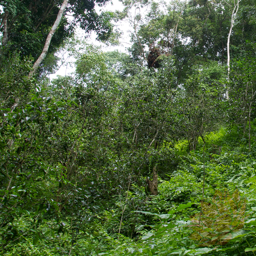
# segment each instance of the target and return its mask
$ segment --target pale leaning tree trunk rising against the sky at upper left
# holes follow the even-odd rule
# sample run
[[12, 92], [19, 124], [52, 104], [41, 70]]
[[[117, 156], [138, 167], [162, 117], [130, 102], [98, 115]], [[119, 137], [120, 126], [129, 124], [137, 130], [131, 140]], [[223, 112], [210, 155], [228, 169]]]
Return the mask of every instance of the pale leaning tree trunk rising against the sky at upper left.
[[68, 0], [64, 0], [61, 7], [60, 7], [60, 10], [59, 10], [59, 13], [57, 15], [57, 18], [51, 28], [51, 31], [50, 33], [48, 34], [47, 38], [46, 38], [46, 41], [45, 41], [45, 45], [44, 45], [44, 49], [41, 53], [41, 55], [39, 56], [39, 58], [37, 59], [37, 61], [35, 62], [32, 70], [30, 71], [29, 73], [29, 76], [32, 76], [35, 74], [37, 68], [39, 67], [39, 65], [42, 63], [42, 61], [45, 59], [46, 55], [47, 55], [47, 52], [49, 50], [49, 46], [50, 46], [50, 43], [51, 43], [51, 40], [52, 40], [52, 37], [55, 33], [55, 31], [57, 30], [59, 24], [60, 24], [60, 21], [61, 21], [61, 18], [62, 18], [62, 15], [63, 15], [63, 12], [64, 10], [66, 9], [67, 7], [67, 4], [68, 4]]

